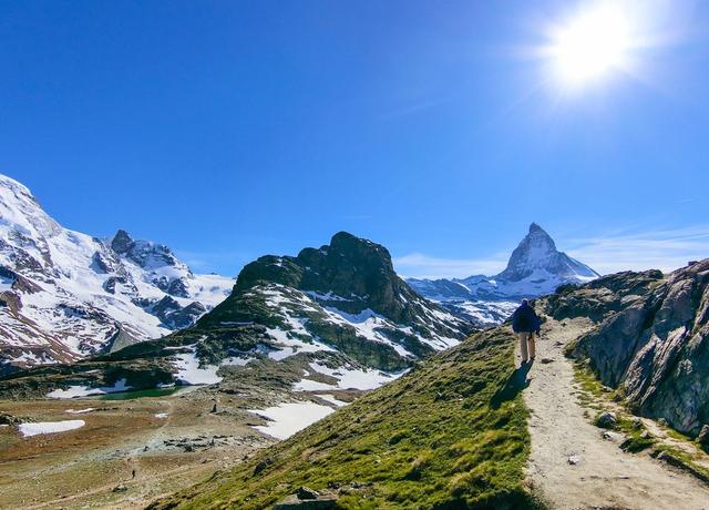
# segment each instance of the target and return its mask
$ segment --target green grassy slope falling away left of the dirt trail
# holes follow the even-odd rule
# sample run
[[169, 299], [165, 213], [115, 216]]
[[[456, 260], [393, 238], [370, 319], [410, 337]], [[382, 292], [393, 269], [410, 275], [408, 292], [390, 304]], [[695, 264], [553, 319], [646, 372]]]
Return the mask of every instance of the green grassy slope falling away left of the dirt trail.
[[261, 509], [328, 484], [350, 488], [342, 508], [534, 507], [522, 483], [530, 436], [513, 345], [506, 328], [476, 334], [154, 508]]

